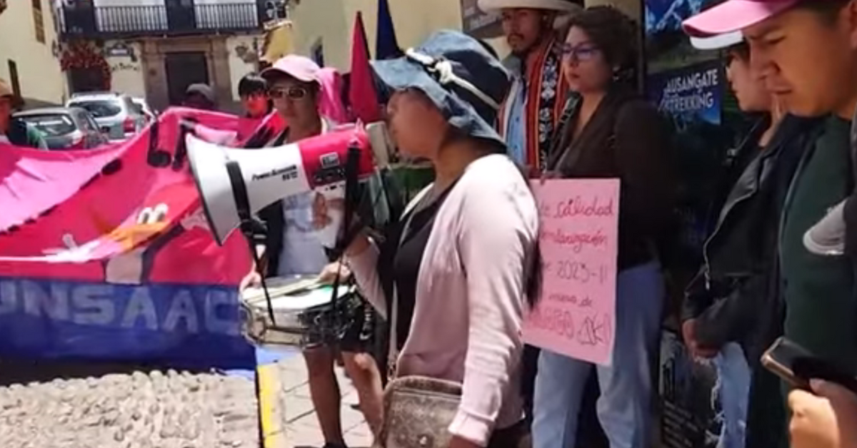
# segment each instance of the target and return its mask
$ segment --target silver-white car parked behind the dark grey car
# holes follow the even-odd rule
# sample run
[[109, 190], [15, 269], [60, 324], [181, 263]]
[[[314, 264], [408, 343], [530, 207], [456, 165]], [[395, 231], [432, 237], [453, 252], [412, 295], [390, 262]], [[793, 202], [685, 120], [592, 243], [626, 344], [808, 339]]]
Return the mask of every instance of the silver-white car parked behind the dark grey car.
[[125, 140], [146, 126], [146, 117], [123, 93], [75, 93], [66, 106], [86, 109], [110, 140]]

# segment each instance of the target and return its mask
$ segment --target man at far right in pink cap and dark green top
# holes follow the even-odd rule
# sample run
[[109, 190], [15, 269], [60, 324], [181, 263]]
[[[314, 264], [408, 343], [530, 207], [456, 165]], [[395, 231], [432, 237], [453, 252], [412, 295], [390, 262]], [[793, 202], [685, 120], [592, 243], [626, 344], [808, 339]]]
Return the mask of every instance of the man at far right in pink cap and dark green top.
[[[857, 0], [728, 0], [688, 19], [684, 28], [692, 36], [740, 30], [754, 69], [786, 110], [824, 117], [784, 193], [776, 287], [786, 308], [783, 334], [857, 371], [855, 259], [825, 257], [804, 244], [807, 230], [857, 181], [848, 141], [857, 109]], [[769, 403], [769, 414], [776, 404]]]

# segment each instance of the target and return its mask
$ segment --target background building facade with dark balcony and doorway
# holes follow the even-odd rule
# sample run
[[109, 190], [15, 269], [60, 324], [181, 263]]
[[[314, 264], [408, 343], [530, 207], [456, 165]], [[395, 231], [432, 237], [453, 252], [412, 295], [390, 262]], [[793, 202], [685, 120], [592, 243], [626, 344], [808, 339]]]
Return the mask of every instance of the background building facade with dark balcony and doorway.
[[237, 82], [257, 67], [272, 7], [266, 0], [62, 0], [70, 90], [129, 93], [164, 109], [202, 82], [229, 109]]

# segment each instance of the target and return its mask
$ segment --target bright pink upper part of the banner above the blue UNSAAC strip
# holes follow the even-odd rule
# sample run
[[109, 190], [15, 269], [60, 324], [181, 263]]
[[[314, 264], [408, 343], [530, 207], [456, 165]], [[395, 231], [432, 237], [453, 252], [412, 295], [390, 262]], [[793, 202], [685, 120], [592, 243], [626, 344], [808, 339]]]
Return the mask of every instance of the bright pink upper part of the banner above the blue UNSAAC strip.
[[[181, 122], [196, 134], [241, 146], [282, 122], [171, 109], [116, 146], [89, 152], [0, 147], [0, 272], [117, 284], [237, 284], [249, 270], [247, 242], [219, 248], [201, 217]], [[254, 130], [257, 130], [254, 133]]]

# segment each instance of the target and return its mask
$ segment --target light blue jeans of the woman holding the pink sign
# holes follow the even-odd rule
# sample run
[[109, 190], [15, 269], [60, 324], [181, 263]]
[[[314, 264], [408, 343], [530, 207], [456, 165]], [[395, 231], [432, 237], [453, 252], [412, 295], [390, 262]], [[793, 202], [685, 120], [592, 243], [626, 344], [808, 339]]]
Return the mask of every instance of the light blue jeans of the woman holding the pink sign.
[[[619, 272], [611, 367], [596, 366], [596, 410], [611, 448], [649, 446], [652, 362], [664, 301], [656, 262]], [[533, 448], [574, 448], [584, 385], [592, 364], [542, 349], [533, 403]]]

